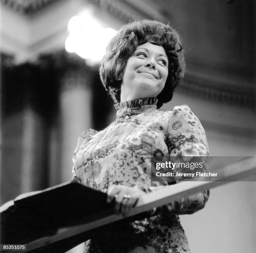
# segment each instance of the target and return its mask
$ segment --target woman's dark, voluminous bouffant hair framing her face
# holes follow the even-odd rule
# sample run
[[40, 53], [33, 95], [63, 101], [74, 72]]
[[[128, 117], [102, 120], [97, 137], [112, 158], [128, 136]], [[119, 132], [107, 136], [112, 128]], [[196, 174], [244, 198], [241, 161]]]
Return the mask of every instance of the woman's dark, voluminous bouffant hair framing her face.
[[156, 20], [133, 21], [123, 26], [110, 41], [100, 66], [100, 78], [115, 103], [120, 103], [125, 64], [138, 45], [146, 42], [162, 46], [168, 57], [168, 76], [164, 89], [157, 96], [157, 108], [172, 99], [174, 89], [184, 76], [185, 61], [179, 34], [170, 25]]

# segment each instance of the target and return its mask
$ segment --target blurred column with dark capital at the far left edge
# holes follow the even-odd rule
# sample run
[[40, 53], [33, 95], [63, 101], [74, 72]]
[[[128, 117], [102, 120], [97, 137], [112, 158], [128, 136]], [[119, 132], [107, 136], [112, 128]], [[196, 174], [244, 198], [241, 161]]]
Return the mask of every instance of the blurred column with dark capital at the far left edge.
[[2, 203], [47, 187], [43, 76], [31, 63], [12, 64], [2, 70]]

